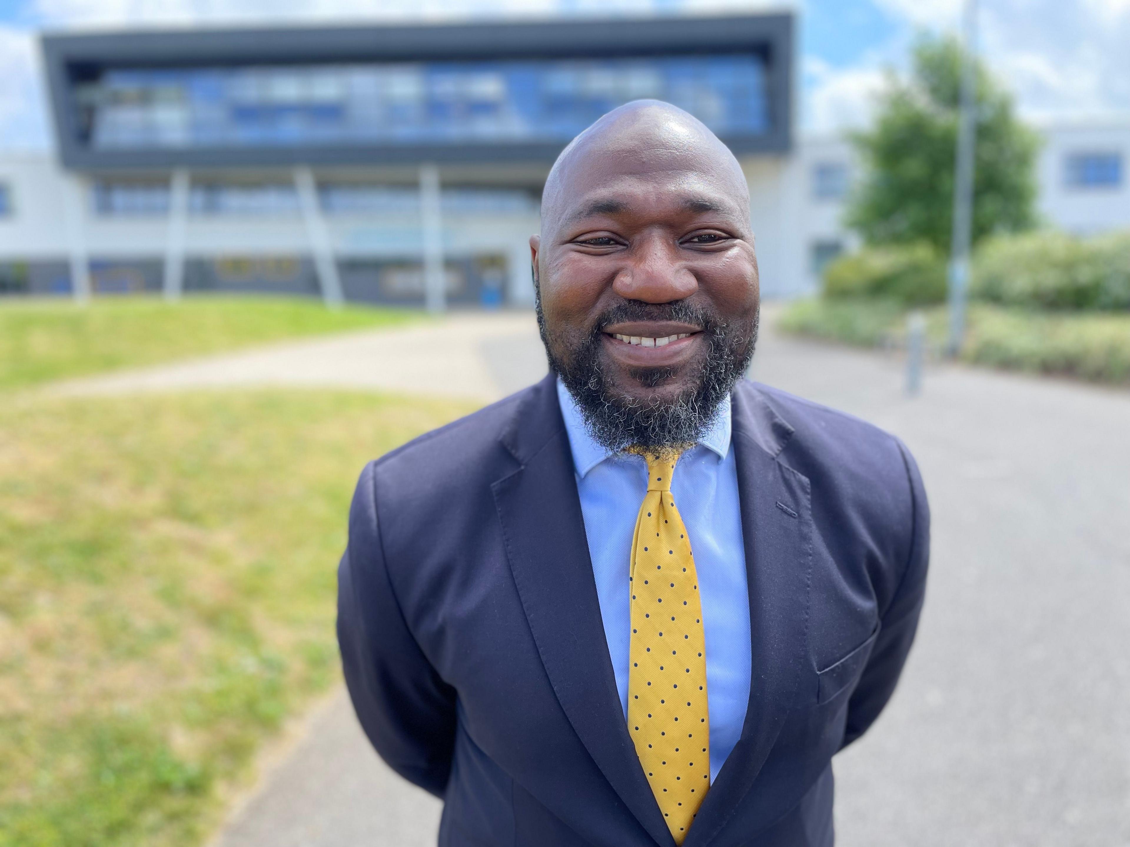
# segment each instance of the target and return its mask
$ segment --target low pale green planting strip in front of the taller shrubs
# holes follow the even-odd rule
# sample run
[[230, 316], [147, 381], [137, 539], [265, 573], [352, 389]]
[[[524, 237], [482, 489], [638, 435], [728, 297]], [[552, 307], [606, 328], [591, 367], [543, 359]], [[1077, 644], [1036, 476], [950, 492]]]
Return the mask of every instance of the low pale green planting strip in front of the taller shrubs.
[[[925, 309], [931, 346], [945, 343], [945, 306]], [[878, 299], [811, 299], [791, 304], [780, 324], [789, 332], [868, 347], [903, 343], [905, 307]], [[972, 304], [962, 350], [965, 361], [1014, 370], [1130, 384], [1130, 314], [1034, 312]]]

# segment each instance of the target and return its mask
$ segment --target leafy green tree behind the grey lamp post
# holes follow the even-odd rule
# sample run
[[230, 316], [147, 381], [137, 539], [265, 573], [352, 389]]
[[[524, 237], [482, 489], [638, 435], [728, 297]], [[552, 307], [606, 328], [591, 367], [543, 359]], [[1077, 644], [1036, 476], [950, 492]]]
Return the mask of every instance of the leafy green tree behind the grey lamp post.
[[[963, 51], [954, 37], [923, 37], [910, 79], [889, 76], [870, 131], [852, 137], [864, 177], [846, 222], [871, 244], [925, 242], [949, 252]], [[1011, 96], [977, 67], [973, 243], [1035, 222], [1038, 139]]]

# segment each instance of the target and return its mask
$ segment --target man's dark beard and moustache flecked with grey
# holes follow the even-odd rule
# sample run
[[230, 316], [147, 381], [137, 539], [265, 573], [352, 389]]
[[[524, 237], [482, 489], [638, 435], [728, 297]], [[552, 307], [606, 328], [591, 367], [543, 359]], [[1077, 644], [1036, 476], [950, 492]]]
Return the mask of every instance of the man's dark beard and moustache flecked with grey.
[[[589, 338], [568, 351], [566, 363], [554, 352], [554, 342], [560, 339], [551, 337], [546, 326], [540, 291], [537, 309], [550, 370], [573, 395], [593, 439], [614, 452], [631, 446], [672, 448], [699, 440], [713, 425], [719, 407], [749, 367], [757, 343], [759, 314], [747, 335], [740, 328], [683, 300], [664, 304], [626, 300], [601, 315]], [[672, 401], [664, 402], [657, 394], [643, 400], [631, 398], [616, 391], [606, 374], [601, 361], [602, 329], [636, 320], [678, 321], [703, 328], [707, 353], [698, 366], [697, 378]], [[641, 368], [631, 374], [646, 387], [655, 387], [671, 375], [670, 368]]]

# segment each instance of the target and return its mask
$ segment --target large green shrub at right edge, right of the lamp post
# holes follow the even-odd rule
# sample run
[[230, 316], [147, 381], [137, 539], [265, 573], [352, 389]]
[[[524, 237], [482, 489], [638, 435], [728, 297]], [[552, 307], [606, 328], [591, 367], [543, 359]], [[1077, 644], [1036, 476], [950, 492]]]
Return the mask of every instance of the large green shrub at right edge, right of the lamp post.
[[1130, 308], [1130, 233], [999, 236], [973, 262], [976, 299], [1045, 309]]

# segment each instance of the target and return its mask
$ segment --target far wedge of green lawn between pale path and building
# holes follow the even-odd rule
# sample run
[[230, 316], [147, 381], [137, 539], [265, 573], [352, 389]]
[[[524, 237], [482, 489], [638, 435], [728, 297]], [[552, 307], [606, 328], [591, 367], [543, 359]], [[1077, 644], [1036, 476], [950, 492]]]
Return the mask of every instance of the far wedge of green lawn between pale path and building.
[[102, 297], [0, 302], [0, 391], [299, 335], [385, 326], [408, 309], [282, 297]]

